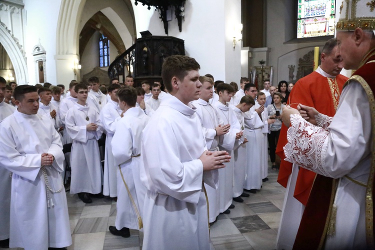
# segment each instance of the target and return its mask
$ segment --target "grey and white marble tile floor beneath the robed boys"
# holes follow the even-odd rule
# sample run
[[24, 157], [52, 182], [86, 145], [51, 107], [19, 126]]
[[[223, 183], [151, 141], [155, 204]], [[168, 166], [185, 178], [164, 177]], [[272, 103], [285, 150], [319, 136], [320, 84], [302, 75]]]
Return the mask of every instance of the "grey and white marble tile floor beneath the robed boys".
[[[277, 173], [268, 168], [269, 180], [263, 182], [260, 191], [250, 193], [242, 203], [233, 201], [235, 208], [218, 216], [210, 228], [212, 249], [275, 249], [285, 193], [276, 182]], [[115, 221], [114, 201], [92, 198], [92, 203], [85, 204], [76, 194], [66, 195], [73, 241], [69, 250], [141, 249], [142, 232], [130, 230], [131, 236], [122, 238], [108, 231]]]

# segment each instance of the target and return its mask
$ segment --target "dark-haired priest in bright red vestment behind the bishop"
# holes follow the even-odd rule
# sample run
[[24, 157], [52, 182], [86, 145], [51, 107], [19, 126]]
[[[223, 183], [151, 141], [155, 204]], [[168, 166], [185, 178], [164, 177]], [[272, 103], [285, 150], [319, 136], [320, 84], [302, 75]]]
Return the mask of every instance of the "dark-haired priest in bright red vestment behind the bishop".
[[[342, 59], [335, 56], [337, 50], [335, 38], [329, 39], [320, 54], [321, 64], [312, 73], [299, 79], [288, 98], [289, 104], [296, 107], [298, 103], [315, 107], [321, 113], [333, 116], [344, 82], [347, 77], [339, 74]], [[292, 104], [295, 103], [295, 104]], [[276, 152], [281, 158], [277, 181], [286, 187], [283, 210], [277, 234], [277, 248], [291, 249], [304, 206], [307, 202], [316, 173], [299, 168], [285, 158], [282, 147], [286, 144], [286, 126], [282, 125]]]

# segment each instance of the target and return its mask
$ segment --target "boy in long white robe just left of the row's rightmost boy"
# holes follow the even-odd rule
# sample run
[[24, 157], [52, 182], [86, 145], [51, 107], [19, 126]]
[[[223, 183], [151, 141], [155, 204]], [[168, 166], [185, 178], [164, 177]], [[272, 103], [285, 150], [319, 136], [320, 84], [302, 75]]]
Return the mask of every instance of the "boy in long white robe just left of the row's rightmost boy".
[[[244, 92], [255, 99], [258, 91], [255, 84], [247, 83], [244, 86]], [[244, 133], [249, 143], [246, 144], [246, 177], [243, 189], [251, 193], [256, 193], [256, 190], [259, 190], [262, 184], [262, 170], [260, 168], [260, 143], [262, 142], [262, 127], [264, 124], [259, 114], [261, 114], [263, 111], [264, 106], [260, 106], [258, 108], [252, 106], [244, 116]]]

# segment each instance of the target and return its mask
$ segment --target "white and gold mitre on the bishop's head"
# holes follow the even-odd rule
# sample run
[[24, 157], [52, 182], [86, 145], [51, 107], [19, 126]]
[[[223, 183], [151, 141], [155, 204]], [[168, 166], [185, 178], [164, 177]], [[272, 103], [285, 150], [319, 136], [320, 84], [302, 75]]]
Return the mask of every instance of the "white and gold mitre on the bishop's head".
[[342, 0], [336, 31], [353, 31], [357, 27], [375, 34], [375, 0]]

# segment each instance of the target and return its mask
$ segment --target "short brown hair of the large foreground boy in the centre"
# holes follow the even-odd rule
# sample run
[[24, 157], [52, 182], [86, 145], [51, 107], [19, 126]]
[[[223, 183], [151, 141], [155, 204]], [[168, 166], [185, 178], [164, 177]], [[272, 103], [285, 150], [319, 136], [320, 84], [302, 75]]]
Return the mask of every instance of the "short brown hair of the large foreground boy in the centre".
[[164, 86], [171, 92], [172, 78], [177, 77], [180, 81], [187, 75], [190, 70], [198, 70], [200, 65], [194, 58], [185, 55], [171, 55], [164, 59], [161, 67], [161, 77], [164, 82]]

